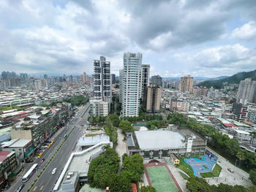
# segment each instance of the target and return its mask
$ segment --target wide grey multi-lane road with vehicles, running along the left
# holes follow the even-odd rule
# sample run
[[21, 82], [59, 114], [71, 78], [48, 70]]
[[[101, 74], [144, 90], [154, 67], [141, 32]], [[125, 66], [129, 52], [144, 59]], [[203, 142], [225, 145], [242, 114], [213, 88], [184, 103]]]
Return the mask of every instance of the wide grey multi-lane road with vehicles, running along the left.
[[[64, 144], [61, 146], [60, 150], [54, 158], [50, 161], [50, 164], [46, 167], [45, 171], [40, 175], [37, 182], [34, 184], [34, 186], [31, 188], [30, 191], [40, 191], [40, 192], [49, 192], [55, 185], [56, 181], [58, 180], [59, 175], [61, 174], [61, 170], [64, 168], [64, 165], [66, 164], [69, 155], [75, 150], [76, 143], [78, 141], [78, 138], [83, 135], [83, 128], [87, 123], [87, 118], [89, 117], [89, 103], [83, 106], [78, 113], [75, 115], [75, 118], [72, 119], [71, 122], [67, 126], [64, 126], [59, 130], [58, 136], [54, 139], [54, 143], [50, 148], [46, 148], [46, 150], [43, 152], [43, 155], [40, 158], [37, 158], [36, 161], [30, 164], [32, 166], [33, 164], [39, 164], [39, 169], [37, 169], [37, 173], [35, 173], [29, 181], [25, 183], [25, 187], [22, 191], [28, 191], [31, 184], [34, 182], [34, 180], [37, 179], [37, 174], [39, 174], [42, 169], [46, 166], [48, 161], [50, 161], [50, 158], [56, 153], [59, 146], [62, 142]], [[70, 133], [70, 134], [69, 134]], [[64, 140], [64, 135], [67, 134], [69, 137], [67, 137], [66, 140]], [[45, 161], [40, 164], [40, 161], [42, 158], [45, 158]], [[56, 173], [52, 174], [53, 169], [56, 168]], [[27, 171], [27, 170], [26, 170]], [[17, 178], [18, 181], [15, 182], [14, 185], [11, 186], [11, 188], [8, 191], [16, 191], [18, 186], [20, 186], [22, 183], [20, 181], [21, 177], [26, 173], [24, 170], [20, 176]]]

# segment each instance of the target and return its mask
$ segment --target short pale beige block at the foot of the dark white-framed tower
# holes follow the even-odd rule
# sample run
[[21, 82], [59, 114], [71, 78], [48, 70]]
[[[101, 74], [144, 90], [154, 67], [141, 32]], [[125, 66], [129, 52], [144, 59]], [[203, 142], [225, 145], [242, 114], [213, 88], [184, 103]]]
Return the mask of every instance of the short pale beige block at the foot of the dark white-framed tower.
[[108, 101], [90, 100], [91, 116], [108, 116]]

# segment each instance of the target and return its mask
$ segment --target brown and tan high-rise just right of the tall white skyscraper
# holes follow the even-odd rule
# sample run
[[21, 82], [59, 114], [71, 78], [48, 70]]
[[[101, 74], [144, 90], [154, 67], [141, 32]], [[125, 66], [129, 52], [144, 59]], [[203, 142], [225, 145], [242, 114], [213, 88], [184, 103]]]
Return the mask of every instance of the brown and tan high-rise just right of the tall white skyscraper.
[[161, 88], [157, 85], [151, 84], [146, 88], [146, 112], [159, 112], [161, 101]]

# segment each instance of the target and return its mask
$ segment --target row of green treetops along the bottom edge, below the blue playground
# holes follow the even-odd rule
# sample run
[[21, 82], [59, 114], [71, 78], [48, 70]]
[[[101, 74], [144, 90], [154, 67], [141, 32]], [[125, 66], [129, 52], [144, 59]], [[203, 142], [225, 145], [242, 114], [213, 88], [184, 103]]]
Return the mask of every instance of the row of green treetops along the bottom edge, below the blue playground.
[[217, 185], [209, 185], [206, 180], [199, 177], [189, 177], [187, 181], [187, 189], [190, 192], [252, 192], [256, 191], [255, 186], [245, 188], [242, 185], [225, 185], [220, 183]]

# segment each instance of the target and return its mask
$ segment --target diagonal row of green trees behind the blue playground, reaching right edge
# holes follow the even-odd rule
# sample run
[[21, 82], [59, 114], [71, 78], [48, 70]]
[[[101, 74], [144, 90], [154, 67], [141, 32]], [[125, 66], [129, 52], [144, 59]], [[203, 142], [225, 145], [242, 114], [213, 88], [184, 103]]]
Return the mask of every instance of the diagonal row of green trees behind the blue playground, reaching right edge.
[[239, 166], [247, 172], [250, 170], [249, 178], [252, 180], [252, 183], [256, 185], [256, 155], [255, 153], [241, 150], [238, 140], [230, 139], [230, 137], [217, 131], [217, 129], [212, 126], [200, 124], [192, 119], [186, 120], [183, 115], [178, 113], [168, 115], [167, 120], [178, 126], [188, 126], [201, 136], [207, 137], [208, 145], [211, 148], [233, 163], [234, 160], [237, 159]]

